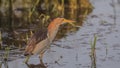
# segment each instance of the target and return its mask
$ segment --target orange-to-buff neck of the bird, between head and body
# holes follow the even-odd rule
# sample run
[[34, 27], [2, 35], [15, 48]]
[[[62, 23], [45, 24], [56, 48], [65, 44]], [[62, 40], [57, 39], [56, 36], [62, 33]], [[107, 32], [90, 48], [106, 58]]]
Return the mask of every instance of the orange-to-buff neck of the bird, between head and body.
[[48, 36], [50, 39], [50, 42], [52, 42], [58, 32], [59, 25], [55, 25], [54, 22], [50, 23], [48, 26]]

